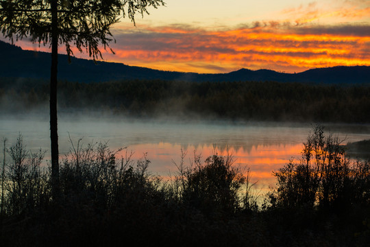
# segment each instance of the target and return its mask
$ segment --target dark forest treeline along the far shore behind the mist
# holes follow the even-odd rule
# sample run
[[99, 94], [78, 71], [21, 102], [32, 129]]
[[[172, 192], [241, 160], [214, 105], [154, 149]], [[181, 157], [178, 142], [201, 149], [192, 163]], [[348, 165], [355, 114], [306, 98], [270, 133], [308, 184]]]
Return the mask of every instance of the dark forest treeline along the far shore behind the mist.
[[[1, 78], [0, 82], [4, 113], [49, 104], [46, 80]], [[59, 108], [66, 111], [104, 110], [133, 117], [370, 122], [367, 85], [125, 80], [90, 84], [62, 81], [58, 86]]]

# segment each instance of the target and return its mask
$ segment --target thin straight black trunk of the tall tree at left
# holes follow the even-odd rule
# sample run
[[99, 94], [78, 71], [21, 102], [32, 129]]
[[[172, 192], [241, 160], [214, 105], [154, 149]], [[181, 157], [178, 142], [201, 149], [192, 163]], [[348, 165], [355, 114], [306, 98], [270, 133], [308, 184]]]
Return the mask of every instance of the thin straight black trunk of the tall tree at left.
[[50, 76], [50, 139], [51, 139], [51, 189], [53, 200], [59, 194], [59, 150], [57, 117], [58, 75], [58, 8], [57, 0], [51, 1], [51, 76]]

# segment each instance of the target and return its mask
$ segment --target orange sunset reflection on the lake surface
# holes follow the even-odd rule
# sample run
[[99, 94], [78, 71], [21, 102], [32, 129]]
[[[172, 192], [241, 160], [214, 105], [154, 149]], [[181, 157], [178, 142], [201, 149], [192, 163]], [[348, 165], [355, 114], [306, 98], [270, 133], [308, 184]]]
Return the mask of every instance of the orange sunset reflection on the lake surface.
[[[291, 158], [298, 159], [301, 157], [302, 145], [256, 145], [251, 150], [244, 150], [243, 148], [236, 150], [233, 147], [228, 148], [228, 150], [219, 150], [212, 147], [212, 145], [182, 147], [179, 144], [160, 142], [133, 145], [131, 148], [134, 150], [132, 156], [134, 160], [143, 158], [144, 154], [147, 154], [147, 158], [151, 161], [149, 170], [165, 179], [168, 179], [170, 174], [174, 176], [178, 172], [175, 164], [180, 165], [182, 150], [186, 153], [184, 165], [187, 167], [193, 163], [194, 154], [201, 155], [201, 161], [205, 161], [208, 156], [214, 154], [221, 156], [230, 154], [234, 159], [234, 165], [244, 167], [245, 172], [249, 167], [251, 183], [258, 181], [258, 187], [266, 189], [275, 185], [273, 171], [283, 167]], [[125, 150], [117, 154], [117, 157], [124, 156], [124, 154]]]

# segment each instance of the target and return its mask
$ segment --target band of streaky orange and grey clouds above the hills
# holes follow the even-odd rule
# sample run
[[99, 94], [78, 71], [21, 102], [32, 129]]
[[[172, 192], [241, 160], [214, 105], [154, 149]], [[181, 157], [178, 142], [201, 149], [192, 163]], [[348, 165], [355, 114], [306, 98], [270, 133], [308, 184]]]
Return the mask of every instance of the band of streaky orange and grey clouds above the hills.
[[115, 57], [105, 55], [108, 60], [164, 70], [169, 70], [171, 64], [182, 64], [182, 71], [200, 73], [240, 67], [293, 72], [312, 67], [370, 65], [370, 35], [364, 32], [369, 28], [280, 23], [255, 23], [253, 27], [219, 31], [181, 25], [150, 27], [118, 33], [117, 43], [112, 45]]

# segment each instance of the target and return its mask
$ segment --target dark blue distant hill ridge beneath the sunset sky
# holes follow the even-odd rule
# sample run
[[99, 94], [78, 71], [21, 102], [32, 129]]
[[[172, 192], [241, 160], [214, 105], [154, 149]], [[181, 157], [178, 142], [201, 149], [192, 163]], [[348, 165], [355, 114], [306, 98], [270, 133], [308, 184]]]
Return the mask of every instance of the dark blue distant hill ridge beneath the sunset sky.
[[[0, 41], [0, 77], [49, 78], [51, 55], [27, 51]], [[240, 69], [230, 73], [182, 73], [128, 66], [59, 55], [58, 79], [72, 82], [106, 82], [110, 80], [179, 80], [190, 82], [275, 81], [319, 84], [370, 84], [370, 67], [330, 67], [309, 69], [301, 73], [279, 73], [267, 69]]]

